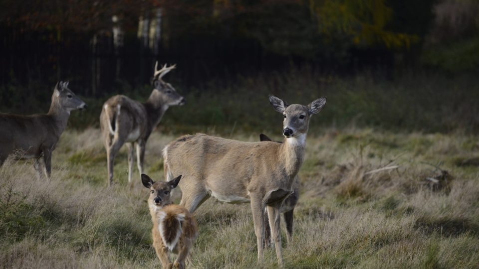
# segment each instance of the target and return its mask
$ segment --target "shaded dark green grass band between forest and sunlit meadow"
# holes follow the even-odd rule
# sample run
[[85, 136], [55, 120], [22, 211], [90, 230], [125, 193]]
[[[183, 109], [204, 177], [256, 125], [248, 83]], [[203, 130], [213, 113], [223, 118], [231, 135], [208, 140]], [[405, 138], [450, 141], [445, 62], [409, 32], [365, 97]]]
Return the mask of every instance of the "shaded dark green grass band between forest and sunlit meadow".
[[[211, 80], [194, 87], [187, 87], [182, 81], [171, 81], [186, 97], [187, 104], [171, 107], [160, 129], [173, 134], [215, 131], [223, 135], [274, 130], [281, 116], [270, 108], [267, 96], [275, 94], [289, 103], [300, 104], [327, 96], [326, 109], [311, 126], [315, 133], [330, 126], [428, 133], [447, 133], [458, 128], [477, 131], [478, 82], [478, 78], [471, 75], [445, 76], [425, 71], [398, 73], [393, 78], [367, 71], [335, 76], [308, 67], [292, 68], [287, 73]], [[81, 92], [75, 89], [74, 82], [70, 86], [73, 91]], [[0, 111], [46, 112], [51, 92], [45, 89], [50, 88], [51, 85], [41, 83], [32, 83], [28, 88], [4, 86], [5, 91], [15, 96], [3, 102], [0, 100]], [[31, 95], [32, 91], [37, 95]], [[139, 101], [145, 101], [150, 92], [149, 85], [118, 89], [118, 93]], [[102, 105], [110, 96], [84, 98], [88, 109], [72, 113], [69, 127], [79, 130], [98, 127]], [[29, 104], [27, 108], [21, 105], [25, 103]]]

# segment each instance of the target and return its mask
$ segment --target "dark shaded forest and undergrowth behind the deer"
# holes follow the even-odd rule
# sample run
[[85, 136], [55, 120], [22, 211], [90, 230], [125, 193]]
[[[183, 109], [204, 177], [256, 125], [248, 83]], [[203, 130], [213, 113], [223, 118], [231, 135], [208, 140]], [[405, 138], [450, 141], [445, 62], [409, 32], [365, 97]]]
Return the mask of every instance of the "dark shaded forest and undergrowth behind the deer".
[[[477, 0], [1, 0], [0, 112], [45, 112], [58, 80], [97, 126], [113, 94], [145, 100], [155, 61], [187, 98], [161, 129], [277, 127], [267, 104], [328, 96], [322, 126], [476, 131]], [[219, 128], [216, 130], [216, 128]]]

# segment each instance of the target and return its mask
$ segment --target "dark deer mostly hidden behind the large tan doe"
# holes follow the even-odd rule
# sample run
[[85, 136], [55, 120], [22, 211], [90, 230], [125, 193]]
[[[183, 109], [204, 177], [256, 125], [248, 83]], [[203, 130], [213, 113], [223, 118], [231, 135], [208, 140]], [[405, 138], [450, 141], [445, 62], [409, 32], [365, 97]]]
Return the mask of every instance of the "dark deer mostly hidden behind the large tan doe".
[[[266, 134], [259, 134], [260, 141], [272, 141]], [[276, 141], [282, 143], [281, 141]], [[283, 201], [279, 212], [283, 213], [284, 224], [286, 225], [286, 238], [288, 245], [293, 239], [293, 212], [299, 199], [299, 176], [296, 175], [293, 183], [293, 192]], [[264, 244], [268, 246], [271, 242], [271, 229], [269, 228], [268, 218], [265, 212], [264, 218]]]

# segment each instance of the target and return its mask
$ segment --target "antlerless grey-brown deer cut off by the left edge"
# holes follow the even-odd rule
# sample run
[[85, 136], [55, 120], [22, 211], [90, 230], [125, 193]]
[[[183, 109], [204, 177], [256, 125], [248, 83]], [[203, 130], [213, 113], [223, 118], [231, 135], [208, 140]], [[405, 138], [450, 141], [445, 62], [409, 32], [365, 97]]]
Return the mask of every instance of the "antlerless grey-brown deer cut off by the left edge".
[[41, 177], [43, 166], [43, 172], [49, 178], [51, 153], [66, 127], [70, 112], [85, 108], [85, 102], [68, 89], [68, 82], [60, 81], [53, 90], [47, 114], [0, 114], [0, 165], [10, 154], [16, 159], [36, 158], [35, 170]]

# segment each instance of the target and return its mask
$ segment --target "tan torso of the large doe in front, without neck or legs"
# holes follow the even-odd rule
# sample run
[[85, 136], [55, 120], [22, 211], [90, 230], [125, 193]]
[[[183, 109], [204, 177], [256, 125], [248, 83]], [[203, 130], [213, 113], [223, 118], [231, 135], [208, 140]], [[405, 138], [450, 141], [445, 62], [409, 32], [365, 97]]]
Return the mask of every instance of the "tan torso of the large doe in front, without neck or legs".
[[186, 185], [202, 184], [219, 200], [241, 202], [246, 200], [238, 197], [247, 197], [250, 189], [288, 185], [284, 169], [278, 165], [280, 146], [196, 134], [171, 142], [163, 154], [168, 172], [183, 175], [182, 190]]

